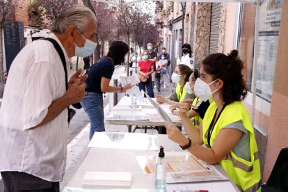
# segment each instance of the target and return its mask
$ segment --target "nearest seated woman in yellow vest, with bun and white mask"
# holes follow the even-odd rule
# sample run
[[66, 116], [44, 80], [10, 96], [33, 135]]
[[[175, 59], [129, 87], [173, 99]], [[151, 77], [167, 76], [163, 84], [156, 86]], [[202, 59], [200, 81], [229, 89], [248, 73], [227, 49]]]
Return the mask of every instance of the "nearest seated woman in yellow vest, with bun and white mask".
[[[254, 127], [245, 106], [247, 95], [243, 61], [237, 50], [211, 54], [203, 61], [194, 92], [203, 101], [213, 99], [199, 129], [186, 113], [191, 99], [180, 106], [184, 136], [175, 125], [165, 124], [168, 138], [210, 164], [220, 163], [241, 191], [261, 191], [261, 171]], [[206, 145], [206, 146], [203, 146]]]

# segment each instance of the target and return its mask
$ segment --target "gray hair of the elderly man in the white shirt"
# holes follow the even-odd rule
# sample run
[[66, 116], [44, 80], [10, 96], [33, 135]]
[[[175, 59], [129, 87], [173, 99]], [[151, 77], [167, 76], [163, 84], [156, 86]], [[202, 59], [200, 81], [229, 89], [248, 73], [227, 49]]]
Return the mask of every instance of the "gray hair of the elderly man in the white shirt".
[[89, 8], [86, 6], [70, 6], [63, 10], [63, 12], [58, 15], [51, 27], [51, 32], [53, 33], [65, 33], [68, 26], [75, 26], [80, 33], [88, 28], [90, 19], [97, 19]]

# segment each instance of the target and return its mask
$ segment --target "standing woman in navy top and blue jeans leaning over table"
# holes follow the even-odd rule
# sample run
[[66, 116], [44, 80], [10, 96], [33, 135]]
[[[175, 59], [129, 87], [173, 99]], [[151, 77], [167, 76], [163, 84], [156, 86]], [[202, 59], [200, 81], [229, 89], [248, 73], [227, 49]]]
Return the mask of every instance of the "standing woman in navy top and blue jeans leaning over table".
[[95, 132], [105, 131], [103, 93], [124, 92], [130, 89], [131, 84], [122, 87], [109, 86], [115, 65], [125, 61], [129, 47], [126, 42], [115, 40], [109, 47], [108, 54], [95, 63], [88, 71], [86, 92], [81, 106], [90, 118], [90, 140]]

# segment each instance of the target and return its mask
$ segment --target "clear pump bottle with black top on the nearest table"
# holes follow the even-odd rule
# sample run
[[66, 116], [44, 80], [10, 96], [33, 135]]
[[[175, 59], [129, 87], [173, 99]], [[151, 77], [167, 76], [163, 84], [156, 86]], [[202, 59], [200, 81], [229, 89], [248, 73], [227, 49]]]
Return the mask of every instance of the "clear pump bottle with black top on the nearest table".
[[166, 187], [166, 170], [167, 163], [164, 159], [165, 153], [164, 148], [160, 146], [159, 156], [156, 162], [156, 173], [155, 173], [155, 188], [161, 189]]

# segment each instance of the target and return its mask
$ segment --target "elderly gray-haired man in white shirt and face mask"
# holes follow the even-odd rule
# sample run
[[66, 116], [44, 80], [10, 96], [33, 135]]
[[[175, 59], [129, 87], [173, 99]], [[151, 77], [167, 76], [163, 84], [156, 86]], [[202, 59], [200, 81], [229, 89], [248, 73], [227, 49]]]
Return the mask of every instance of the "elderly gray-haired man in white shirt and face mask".
[[67, 83], [64, 66], [69, 70], [72, 56], [93, 53], [96, 24], [91, 10], [70, 6], [49, 36], [61, 50], [36, 40], [13, 61], [0, 109], [0, 171], [6, 191], [59, 191], [66, 166], [67, 106], [81, 101], [87, 79], [78, 70]]

